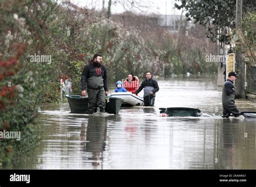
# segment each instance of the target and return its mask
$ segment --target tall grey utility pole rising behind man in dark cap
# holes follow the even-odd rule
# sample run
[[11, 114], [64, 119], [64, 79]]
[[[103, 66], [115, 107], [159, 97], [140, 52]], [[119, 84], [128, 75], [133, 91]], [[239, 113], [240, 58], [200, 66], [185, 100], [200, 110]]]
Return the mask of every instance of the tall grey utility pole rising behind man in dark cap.
[[[235, 31], [237, 32], [242, 27], [242, 0], [237, 0], [235, 11]], [[238, 45], [238, 44], [237, 44]], [[238, 48], [237, 48], [238, 47]], [[245, 98], [245, 60], [242, 58], [242, 50], [238, 45], [235, 48], [235, 69], [239, 75], [236, 85], [238, 88], [237, 96]]]

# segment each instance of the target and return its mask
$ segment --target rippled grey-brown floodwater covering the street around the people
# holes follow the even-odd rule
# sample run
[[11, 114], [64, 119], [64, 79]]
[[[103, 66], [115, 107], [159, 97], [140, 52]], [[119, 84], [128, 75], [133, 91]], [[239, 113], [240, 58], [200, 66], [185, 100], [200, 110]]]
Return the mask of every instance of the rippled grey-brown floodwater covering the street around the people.
[[[9, 169], [256, 169], [256, 119], [221, 118], [215, 81], [159, 81], [159, 88], [155, 107], [117, 115], [71, 114], [69, 104], [49, 104], [38, 119], [40, 145]], [[236, 103], [256, 110], [248, 100]], [[159, 107], [174, 106], [215, 116], [160, 117]]]

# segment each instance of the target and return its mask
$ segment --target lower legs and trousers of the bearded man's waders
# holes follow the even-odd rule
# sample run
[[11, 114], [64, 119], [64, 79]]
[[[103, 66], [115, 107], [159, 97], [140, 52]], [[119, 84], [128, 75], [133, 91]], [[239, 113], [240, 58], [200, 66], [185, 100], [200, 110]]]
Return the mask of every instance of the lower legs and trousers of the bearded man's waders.
[[88, 113], [93, 113], [96, 106], [99, 107], [100, 112], [105, 112], [105, 90], [104, 89], [87, 89], [89, 98]]

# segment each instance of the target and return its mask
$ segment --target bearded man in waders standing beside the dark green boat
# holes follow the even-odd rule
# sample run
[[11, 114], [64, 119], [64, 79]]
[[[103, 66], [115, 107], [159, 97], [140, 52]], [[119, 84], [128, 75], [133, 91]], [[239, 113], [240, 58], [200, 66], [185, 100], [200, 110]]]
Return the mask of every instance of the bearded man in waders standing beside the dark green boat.
[[95, 54], [89, 64], [87, 64], [82, 73], [82, 96], [86, 96], [86, 87], [89, 98], [88, 113], [95, 111], [96, 105], [99, 112], [105, 112], [105, 96], [109, 94], [107, 90], [107, 72], [102, 64], [102, 56]]

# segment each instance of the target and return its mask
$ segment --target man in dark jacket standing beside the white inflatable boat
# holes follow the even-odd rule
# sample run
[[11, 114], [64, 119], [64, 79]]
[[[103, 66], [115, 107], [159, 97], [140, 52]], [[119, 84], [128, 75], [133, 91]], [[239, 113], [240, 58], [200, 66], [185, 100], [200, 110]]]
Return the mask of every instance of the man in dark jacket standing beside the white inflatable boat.
[[146, 79], [140, 84], [138, 90], [134, 93], [138, 94], [144, 88], [144, 106], [154, 106], [154, 99], [156, 98], [156, 92], [159, 90], [156, 80], [151, 78], [150, 71], [146, 73]]

